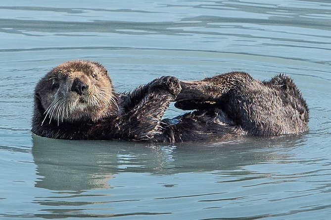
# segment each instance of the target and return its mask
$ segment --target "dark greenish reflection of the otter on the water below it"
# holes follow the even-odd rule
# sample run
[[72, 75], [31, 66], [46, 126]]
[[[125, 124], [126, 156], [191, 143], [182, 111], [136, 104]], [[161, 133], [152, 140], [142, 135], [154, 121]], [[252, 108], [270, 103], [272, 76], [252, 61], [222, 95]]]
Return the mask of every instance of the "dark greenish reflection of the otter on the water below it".
[[[146, 146], [143, 143], [118, 141], [72, 142], [49, 140], [35, 135], [32, 138], [32, 155], [39, 176], [36, 187], [62, 192], [106, 189], [122, 183], [126, 187], [139, 182], [142, 184], [146, 179], [143, 174], [176, 175], [219, 171], [225, 181], [228, 180], [226, 177], [242, 179], [250, 175], [260, 176], [264, 174], [251, 173], [243, 167], [282, 160], [288, 155], [279, 148], [302, 144], [301, 139], [295, 137], [261, 138], [259, 141], [247, 137], [241, 143], [181, 143], [177, 146]], [[122, 175], [125, 173], [140, 179], [125, 183], [126, 176]], [[114, 175], [117, 181], [113, 179]]]

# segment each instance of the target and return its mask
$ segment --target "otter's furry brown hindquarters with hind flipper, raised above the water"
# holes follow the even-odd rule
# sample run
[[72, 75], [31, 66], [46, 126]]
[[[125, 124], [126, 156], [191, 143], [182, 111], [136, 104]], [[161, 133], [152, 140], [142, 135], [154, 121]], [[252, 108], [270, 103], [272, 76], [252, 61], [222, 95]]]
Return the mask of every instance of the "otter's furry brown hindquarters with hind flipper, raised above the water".
[[[229, 134], [257, 136], [300, 134], [308, 130], [307, 104], [294, 82], [282, 74], [261, 82], [247, 73], [232, 72], [181, 82], [181, 86], [175, 107], [197, 110], [192, 115], [198, 120], [208, 117], [219, 124], [216, 129], [208, 123], [201, 127], [206, 133], [212, 129], [211, 135], [225, 128]], [[225, 115], [225, 120], [219, 115]], [[178, 130], [179, 126], [184, 125], [174, 125], [169, 130]]]

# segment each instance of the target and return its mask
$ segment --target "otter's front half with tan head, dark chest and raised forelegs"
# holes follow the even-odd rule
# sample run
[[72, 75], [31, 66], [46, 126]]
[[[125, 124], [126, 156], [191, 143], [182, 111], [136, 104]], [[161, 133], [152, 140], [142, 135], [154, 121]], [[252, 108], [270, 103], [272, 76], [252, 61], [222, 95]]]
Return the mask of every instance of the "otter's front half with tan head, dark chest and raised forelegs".
[[163, 76], [120, 94], [106, 69], [92, 61], [69, 61], [37, 84], [32, 132], [72, 140], [154, 141], [161, 117], [181, 91], [180, 81]]

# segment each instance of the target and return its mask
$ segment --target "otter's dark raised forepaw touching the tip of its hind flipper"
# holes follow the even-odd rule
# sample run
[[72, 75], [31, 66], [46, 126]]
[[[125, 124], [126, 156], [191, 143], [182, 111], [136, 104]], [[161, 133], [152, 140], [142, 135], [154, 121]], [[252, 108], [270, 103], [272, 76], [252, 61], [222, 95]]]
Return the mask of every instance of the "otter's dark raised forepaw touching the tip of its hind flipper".
[[153, 83], [154, 89], [166, 89], [173, 96], [177, 96], [181, 90], [181, 83], [178, 78], [174, 76], [162, 76]]

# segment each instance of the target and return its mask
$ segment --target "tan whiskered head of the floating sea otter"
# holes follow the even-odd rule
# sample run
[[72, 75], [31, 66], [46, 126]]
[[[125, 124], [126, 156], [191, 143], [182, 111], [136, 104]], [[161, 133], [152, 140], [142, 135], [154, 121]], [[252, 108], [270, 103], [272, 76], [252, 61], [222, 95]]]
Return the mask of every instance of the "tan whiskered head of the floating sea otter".
[[91, 61], [65, 62], [48, 72], [35, 89], [35, 105], [44, 114], [42, 124], [48, 119], [58, 124], [96, 121], [114, 110], [114, 98], [106, 69]]

